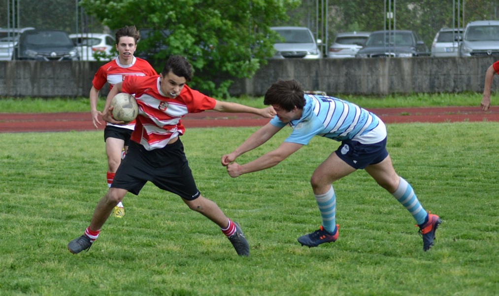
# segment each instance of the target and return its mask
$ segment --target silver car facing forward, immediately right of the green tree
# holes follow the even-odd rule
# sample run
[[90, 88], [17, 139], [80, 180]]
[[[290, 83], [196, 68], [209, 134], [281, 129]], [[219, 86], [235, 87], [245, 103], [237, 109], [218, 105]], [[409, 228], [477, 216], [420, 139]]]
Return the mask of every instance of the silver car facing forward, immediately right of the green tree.
[[320, 39], [315, 40], [307, 27], [272, 26], [282, 40], [274, 44], [275, 54], [272, 58], [321, 58]]

